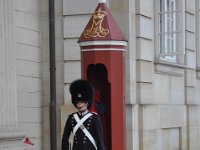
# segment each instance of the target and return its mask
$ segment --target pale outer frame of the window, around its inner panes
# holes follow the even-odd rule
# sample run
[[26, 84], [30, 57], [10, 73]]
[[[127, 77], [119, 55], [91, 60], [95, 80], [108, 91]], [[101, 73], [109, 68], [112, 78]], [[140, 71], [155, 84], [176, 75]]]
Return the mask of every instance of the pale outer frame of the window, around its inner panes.
[[[160, 25], [160, 1], [155, 1], [155, 60], [160, 62], [168, 62], [172, 64], [184, 64], [184, 55], [185, 55], [185, 3], [182, 0], [169, 0], [169, 1], [176, 1], [176, 9], [173, 12], [164, 12], [164, 13], [176, 13], [176, 29], [173, 33], [176, 34], [176, 50], [172, 52], [162, 53], [161, 52], [161, 25]], [[163, 0], [167, 2], [168, 0]], [[177, 17], [177, 13], [179, 12]], [[166, 24], [166, 23], [165, 23]], [[180, 35], [177, 35], [179, 32]], [[165, 33], [166, 34], [166, 33]]]

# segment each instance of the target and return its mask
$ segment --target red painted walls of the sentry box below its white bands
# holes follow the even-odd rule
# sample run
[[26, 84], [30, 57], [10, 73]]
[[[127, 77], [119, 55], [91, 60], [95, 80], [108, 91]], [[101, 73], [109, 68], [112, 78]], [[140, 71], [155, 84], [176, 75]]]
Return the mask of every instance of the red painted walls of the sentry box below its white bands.
[[84, 79], [87, 79], [87, 67], [90, 64], [100, 63], [107, 68], [111, 90], [111, 132], [108, 132], [111, 134], [111, 150], [125, 150], [124, 52], [83, 51], [81, 57]]

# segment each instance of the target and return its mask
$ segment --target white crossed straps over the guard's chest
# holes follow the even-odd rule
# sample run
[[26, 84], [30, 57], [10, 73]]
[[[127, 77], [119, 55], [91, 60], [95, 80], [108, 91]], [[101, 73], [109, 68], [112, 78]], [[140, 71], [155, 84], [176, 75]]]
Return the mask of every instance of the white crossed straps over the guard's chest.
[[90, 116], [92, 116], [92, 114], [88, 113], [81, 120], [79, 119], [77, 114], [74, 114], [73, 116], [77, 122], [76, 126], [73, 129], [73, 134], [75, 134], [76, 131], [78, 130], [78, 128], [80, 128], [84, 132], [84, 134], [88, 137], [88, 139], [91, 141], [91, 143], [94, 145], [95, 149], [97, 149], [94, 138], [92, 137], [90, 132], [85, 128], [85, 126], [83, 125], [83, 122], [85, 122]]

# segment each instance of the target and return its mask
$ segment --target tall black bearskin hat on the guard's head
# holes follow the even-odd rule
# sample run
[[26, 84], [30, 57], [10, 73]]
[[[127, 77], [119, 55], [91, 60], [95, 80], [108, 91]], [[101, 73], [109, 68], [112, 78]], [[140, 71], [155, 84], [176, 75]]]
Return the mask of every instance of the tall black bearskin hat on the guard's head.
[[91, 108], [94, 98], [94, 87], [93, 85], [83, 79], [75, 80], [69, 87], [71, 93], [72, 104], [76, 107], [77, 101], [84, 101], [88, 103], [88, 109]]

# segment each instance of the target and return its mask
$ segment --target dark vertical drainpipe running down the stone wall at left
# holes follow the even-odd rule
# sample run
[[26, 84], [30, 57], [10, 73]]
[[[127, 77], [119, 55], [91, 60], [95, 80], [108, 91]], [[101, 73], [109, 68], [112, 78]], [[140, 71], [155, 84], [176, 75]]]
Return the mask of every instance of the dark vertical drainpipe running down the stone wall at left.
[[49, 59], [50, 59], [50, 143], [57, 150], [56, 133], [56, 65], [54, 0], [49, 0]]

